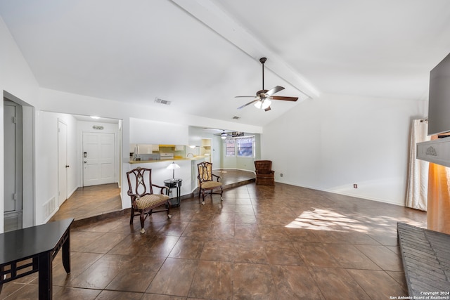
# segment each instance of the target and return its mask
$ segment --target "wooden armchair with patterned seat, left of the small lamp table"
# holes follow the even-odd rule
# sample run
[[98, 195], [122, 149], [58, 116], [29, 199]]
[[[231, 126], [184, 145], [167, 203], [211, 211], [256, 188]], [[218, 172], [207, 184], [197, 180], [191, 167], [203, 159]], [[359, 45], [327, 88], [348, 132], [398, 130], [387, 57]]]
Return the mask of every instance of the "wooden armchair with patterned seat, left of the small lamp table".
[[[151, 175], [152, 169], [141, 167], [127, 172], [128, 195], [131, 197], [131, 217], [129, 223], [133, 223], [135, 216], [140, 216], [141, 233], [146, 232], [143, 229], [143, 222], [155, 212], [167, 211], [167, 218], [172, 218], [172, 215], [169, 214], [169, 196], [163, 193], [167, 187], [153, 184]], [[153, 187], [160, 188], [160, 194], [154, 194]], [[164, 209], [153, 211], [156, 207], [164, 207]]]

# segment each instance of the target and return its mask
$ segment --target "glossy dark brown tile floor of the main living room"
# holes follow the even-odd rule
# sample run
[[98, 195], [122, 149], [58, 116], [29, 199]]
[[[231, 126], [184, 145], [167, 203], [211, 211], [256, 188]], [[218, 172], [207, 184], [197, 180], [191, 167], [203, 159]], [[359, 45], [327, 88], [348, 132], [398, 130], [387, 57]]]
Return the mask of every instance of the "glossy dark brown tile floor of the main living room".
[[[276, 183], [193, 197], [154, 214], [72, 228], [72, 273], [53, 261], [53, 299], [390, 299], [407, 295], [397, 221], [426, 214]], [[37, 299], [37, 275], [0, 299]]]

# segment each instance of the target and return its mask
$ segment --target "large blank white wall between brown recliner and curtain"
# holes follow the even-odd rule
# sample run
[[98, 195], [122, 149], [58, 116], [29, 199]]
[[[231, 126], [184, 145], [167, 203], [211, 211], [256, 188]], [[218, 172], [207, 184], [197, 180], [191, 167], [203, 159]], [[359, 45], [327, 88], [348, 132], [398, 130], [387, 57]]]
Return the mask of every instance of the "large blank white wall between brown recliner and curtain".
[[264, 126], [262, 159], [273, 161], [277, 182], [404, 205], [409, 126], [425, 106], [330, 94], [305, 100]]

